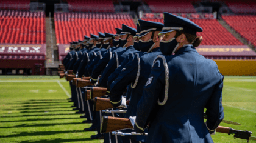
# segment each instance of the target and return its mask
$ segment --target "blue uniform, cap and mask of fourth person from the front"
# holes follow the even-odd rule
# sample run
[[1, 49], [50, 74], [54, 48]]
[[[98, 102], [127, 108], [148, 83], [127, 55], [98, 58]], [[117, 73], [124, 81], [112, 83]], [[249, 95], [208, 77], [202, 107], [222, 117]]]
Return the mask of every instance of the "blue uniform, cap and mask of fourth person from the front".
[[[116, 28], [116, 35], [113, 35], [113, 37], [119, 36], [120, 33], [121, 33], [121, 29]], [[106, 65], [112, 58], [112, 53], [124, 50], [123, 47], [118, 47], [119, 46], [118, 42], [119, 40], [116, 41], [115, 39], [113, 39], [112, 44], [114, 47], [108, 48], [107, 53], [105, 53], [105, 55], [102, 56], [102, 59], [100, 59], [99, 62], [97, 62], [97, 64], [94, 65], [93, 71], [91, 73], [91, 79], [94, 79], [94, 80], [91, 80], [92, 83], [97, 82], [95, 79], [98, 79], [99, 75], [101, 75], [102, 71], [104, 71]]]

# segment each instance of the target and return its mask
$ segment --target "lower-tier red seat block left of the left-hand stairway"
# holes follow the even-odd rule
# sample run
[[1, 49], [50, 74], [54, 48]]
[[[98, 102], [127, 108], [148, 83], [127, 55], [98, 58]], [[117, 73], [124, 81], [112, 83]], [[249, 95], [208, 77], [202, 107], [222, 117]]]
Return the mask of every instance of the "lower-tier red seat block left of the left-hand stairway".
[[44, 44], [44, 12], [0, 11], [0, 43]]

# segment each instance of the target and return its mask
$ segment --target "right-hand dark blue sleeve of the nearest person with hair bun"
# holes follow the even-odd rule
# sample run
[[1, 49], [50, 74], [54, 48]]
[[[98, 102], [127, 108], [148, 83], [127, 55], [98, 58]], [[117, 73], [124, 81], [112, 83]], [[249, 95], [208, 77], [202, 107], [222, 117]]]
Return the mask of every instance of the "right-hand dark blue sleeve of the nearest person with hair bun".
[[[219, 70], [218, 70], [219, 72]], [[219, 73], [219, 83], [215, 86], [212, 96], [206, 105], [207, 121], [206, 126], [209, 131], [216, 130], [221, 121], [224, 118], [223, 106], [222, 106], [222, 89], [224, 76]]]

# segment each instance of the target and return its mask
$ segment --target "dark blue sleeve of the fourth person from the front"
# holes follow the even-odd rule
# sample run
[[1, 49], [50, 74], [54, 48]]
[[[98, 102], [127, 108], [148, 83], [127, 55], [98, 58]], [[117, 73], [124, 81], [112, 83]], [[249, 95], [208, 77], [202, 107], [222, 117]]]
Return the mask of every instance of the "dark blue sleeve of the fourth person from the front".
[[110, 54], [112, 53], [110, 50], [108, 50], [107, 53], [102, 56], [102, 59], [100, 59], [99, 62], [94, 65], [91, 73], [92, 79], [98, 79], [99, 75], [101, 75], [101, 72], [105, 69], [106, 65], [110, 61]]

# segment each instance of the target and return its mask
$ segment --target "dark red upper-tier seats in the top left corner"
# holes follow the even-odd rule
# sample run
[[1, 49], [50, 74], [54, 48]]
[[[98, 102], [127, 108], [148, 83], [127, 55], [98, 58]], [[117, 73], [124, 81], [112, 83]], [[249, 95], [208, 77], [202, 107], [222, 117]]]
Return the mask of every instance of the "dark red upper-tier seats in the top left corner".
[[30, 0], [0, 0], [0, 7], [8, 10], [29, 10]]

